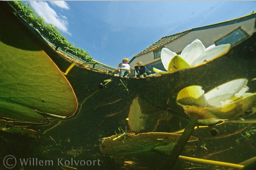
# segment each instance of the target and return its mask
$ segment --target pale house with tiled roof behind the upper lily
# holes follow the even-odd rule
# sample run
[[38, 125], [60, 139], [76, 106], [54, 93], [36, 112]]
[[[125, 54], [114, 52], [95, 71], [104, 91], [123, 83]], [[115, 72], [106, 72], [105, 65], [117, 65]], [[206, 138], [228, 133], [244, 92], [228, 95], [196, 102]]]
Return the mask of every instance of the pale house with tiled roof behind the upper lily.
[[146, 65], [149, 71], [153, 71], [153, 67], [165, 70], [161, 62], [162, 48], [168, 48], [179, 54], [196, 38], [201, 40], [205, 47], [212, 44], [221, 45], [227, 43], [231, 44], [231, 46], [237, 45], [256, 32], [255, 20], [256, 13], [253, 13], [241, 18], [164, 36], [130, 60], [131, 74], [135, 75], [134, 66], [136, 66], [137, 61], [141, 61]]

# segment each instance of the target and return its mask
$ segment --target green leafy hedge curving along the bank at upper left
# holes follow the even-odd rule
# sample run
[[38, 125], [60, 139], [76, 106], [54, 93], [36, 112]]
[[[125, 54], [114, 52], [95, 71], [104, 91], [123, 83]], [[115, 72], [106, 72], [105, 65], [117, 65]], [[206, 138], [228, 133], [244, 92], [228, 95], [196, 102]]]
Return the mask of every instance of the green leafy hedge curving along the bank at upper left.
[[89, 56], [87, 51], [76, 47], [74, 43], [66, 40], [65, 36], [58, 31], [56, 26], [46, 24], [43, 18], [37, 17], [35, 11], [30, 8], [28, 3], [25, 4], [22, 1], [9, 1], [9, 3], [30, 26], [38, 30], [42, 36], [55, 45], [56, 51], [58, 48], [61, 48], [65, 52], [77, 56], [88, 63], [95, 64], [95, 61]]

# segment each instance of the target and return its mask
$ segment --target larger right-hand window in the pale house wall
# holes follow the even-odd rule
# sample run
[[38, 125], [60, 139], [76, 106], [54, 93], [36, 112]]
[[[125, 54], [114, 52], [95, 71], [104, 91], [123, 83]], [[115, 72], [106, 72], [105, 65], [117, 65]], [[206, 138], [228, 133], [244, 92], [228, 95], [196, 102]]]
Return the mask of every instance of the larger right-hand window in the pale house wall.
[[239, 27], [231, 33], [227, 34], [226, 36], [215, 41], [214, 43], [215, 45], [230, 44], [231, 46], [233, 46], [237, 43], [240, 43], [248, 37], [249, 35], [241, 27]]

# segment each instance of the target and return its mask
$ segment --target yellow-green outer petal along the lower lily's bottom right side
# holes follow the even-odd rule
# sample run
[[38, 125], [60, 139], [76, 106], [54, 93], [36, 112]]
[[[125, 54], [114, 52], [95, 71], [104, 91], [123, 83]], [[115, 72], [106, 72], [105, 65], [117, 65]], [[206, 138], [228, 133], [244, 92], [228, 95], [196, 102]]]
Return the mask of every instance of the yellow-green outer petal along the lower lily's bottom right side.
[[218, 120], [232, 119], [242, 116], [251, 107], [255, 106], [256, 93], [246, 93], [244, 97], [225, 104], [221, 107], [214, 107], [209, 109], [211, 117]]

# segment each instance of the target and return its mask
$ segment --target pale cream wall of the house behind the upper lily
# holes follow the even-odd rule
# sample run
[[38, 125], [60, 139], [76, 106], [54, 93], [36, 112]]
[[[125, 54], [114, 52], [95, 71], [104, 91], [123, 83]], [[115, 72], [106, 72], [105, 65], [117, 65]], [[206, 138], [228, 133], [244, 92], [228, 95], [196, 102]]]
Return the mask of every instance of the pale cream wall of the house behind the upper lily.
[[[230, 25], [220, 24], [218, 27], [214, 27], [214, 25], [209, 25], [200, 28], [194, 28], [189, 33], [180, 36], [179, 38], [167, 43], [164, 47], [168, 48], [171, 51], [175, 51], [176, 53], [180, 53], [185, 46], [189, 43], [194, 41], [196, 38], [202, 41], [205, 47], [208, 47], [214, 44], [214, 41], [218, 40], [219, 38], [227, 35], [231, 31], [235, 30], [239, 26], [248, 33], [248, 35], [252, 35], [255, 25], [255, 19], [251, 18], [250, 20], [241, 21], [239, 23], [234, 23]], [[137, 61], [141, 61], [144, 65], [154, 63], [158, 61], [160, 58], [154, 59], [154, 51], [149, 51], [146, 54], [142, 54], [137, 56], [131, 63], [131, 69], [134, 69], [136, 66]]]

